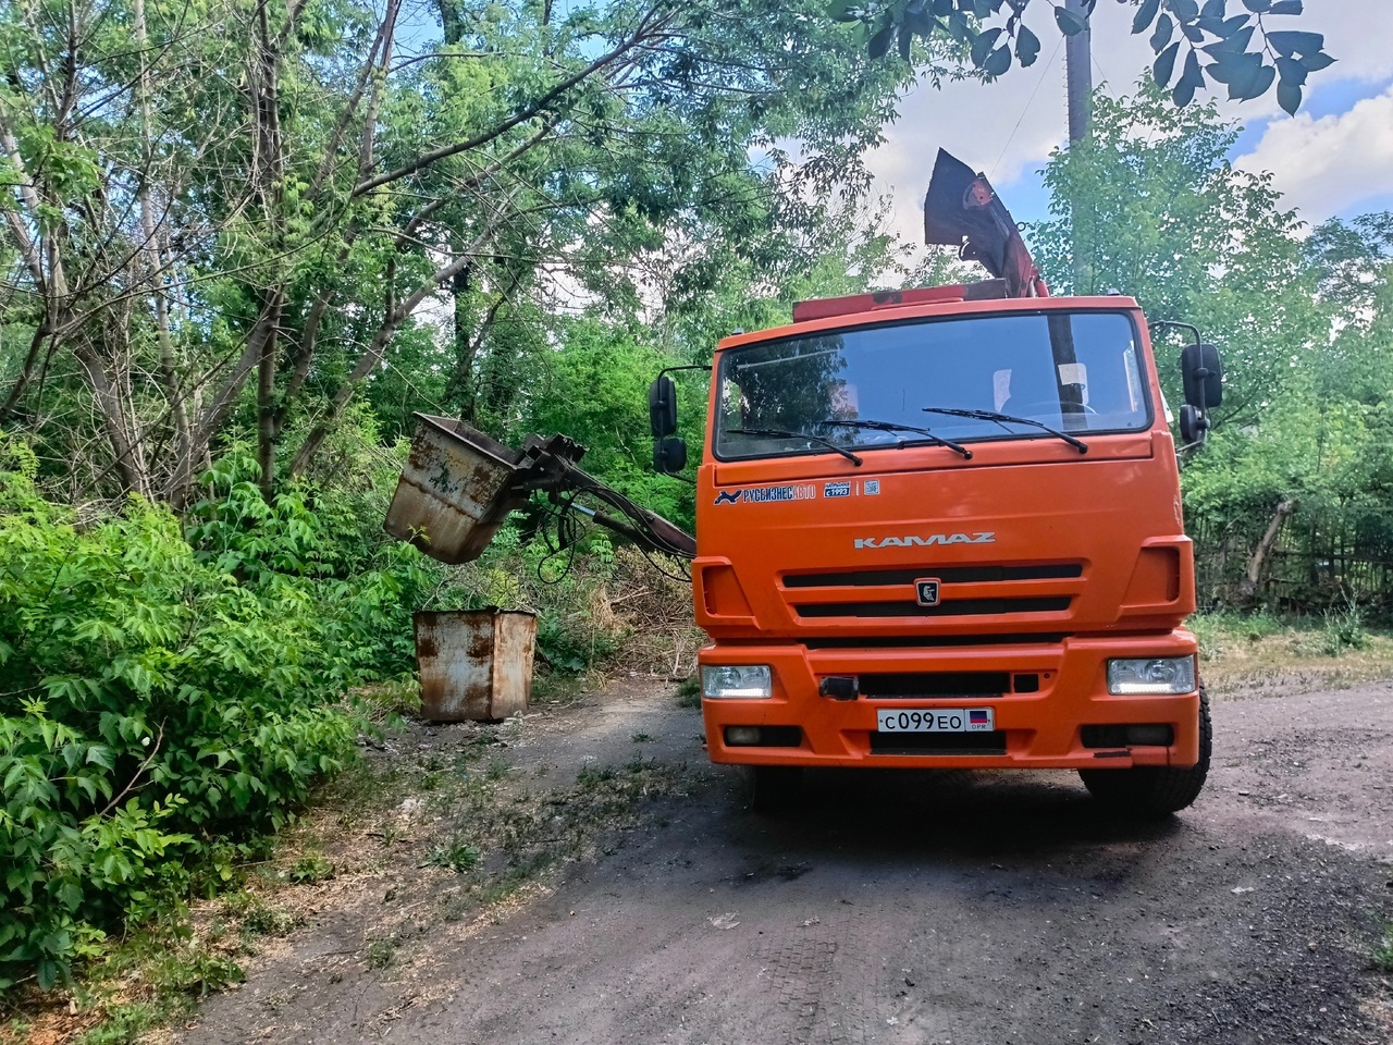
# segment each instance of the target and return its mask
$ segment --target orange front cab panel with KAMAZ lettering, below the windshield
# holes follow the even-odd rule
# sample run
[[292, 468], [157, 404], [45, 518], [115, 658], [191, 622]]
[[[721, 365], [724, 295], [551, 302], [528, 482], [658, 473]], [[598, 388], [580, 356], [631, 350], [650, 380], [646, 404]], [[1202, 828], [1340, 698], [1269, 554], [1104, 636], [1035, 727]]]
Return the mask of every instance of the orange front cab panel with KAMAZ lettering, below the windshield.
[[[1195, 603], [1169, 431], [713, 463], [696, 621], [720, 641], [1152, 631]], [[919, 605], [917, 582], [937, 580]], [[932, 587], [929, 588], [932, 594]]]

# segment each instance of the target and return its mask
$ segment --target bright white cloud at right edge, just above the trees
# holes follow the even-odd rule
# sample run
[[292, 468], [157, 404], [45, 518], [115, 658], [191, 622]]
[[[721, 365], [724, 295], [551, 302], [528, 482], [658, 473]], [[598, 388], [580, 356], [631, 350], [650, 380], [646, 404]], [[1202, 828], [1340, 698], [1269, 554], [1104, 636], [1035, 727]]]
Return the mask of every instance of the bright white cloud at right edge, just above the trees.
[[1347, 113], [1273, 121], [1244, 170], [1270, 170], [1275, 185], [1309, 220], [1393, 192], [1393, 86]]

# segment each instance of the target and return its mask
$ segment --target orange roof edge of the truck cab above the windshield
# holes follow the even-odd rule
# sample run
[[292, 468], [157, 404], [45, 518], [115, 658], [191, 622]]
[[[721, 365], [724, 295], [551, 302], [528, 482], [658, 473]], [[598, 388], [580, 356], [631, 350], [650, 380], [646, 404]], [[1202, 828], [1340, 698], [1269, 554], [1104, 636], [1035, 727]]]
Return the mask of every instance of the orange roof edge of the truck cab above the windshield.
[[[995, 283], [996, 280], [989, 280]], [[780, 337], [798, 337], [819, 330], [837, 330], [853, 326], [869, 326], [903, 319], [949, 318], [968, 315], [990, 315], [1000, 312], [1053, 312], [1059, 309], [1099, 309], [1109, 312], [1135, 311], [1135, 298], [1121, 294], [1094, 297], [1031, 297], [1031, 298], [974, 298], [971, 287], [979, 284], [958, 284], [950, 287], [918, 287], [914, 290], [876, 291], [854, 294], [844, 298], [820, 298], [800, 301], [794, 305], [794, 322], [787, 326], [773, 326], [765, 330], [736, 333], [723, 337], [716, 351], [736, 348], [742, 344], [769, 341]]]

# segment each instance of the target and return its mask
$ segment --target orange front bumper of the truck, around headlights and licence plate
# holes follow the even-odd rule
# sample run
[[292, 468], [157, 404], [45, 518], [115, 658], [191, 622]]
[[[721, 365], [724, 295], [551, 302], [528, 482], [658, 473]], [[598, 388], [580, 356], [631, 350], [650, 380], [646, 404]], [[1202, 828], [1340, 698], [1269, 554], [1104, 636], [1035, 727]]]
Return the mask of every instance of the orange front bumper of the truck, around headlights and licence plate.
[[[795, 642], [717, 644], [702, 665], [769, 665], [773, 697], [703, 699], [706, 745], [713, 762], [804, 766], [1103, 769], [1134, 765], [1192, 766], [1199, 759], [1199, 692], [1178, 697], [1114, 697], [1106, 662], [1130, 656], [1192, 656], [1188, 631], [1082, 638], [1052, 644], [953, 648], [808, 649]], [[1035, 676], [1036, 692], [989, 697], [859, 697], [818, 692], [826, 676], [978, 673]], [[992, 708], [1000, 747], [989, 754], [890, 754], [876, 733], [876, 711]], [[1085, 726], [1169, 725], [1165, 747], [1085, 747]], [[797, 747], [733, 747], [727, 726], [795, 726]], [[787, 733], [787, 730], [784, 730]], [[1096, 736], [1096, 732], [1092, 734]], [[1096, 740], [1094, 741], [1096, 744]], [[878, 750], [872, 750], [872, 748]]]

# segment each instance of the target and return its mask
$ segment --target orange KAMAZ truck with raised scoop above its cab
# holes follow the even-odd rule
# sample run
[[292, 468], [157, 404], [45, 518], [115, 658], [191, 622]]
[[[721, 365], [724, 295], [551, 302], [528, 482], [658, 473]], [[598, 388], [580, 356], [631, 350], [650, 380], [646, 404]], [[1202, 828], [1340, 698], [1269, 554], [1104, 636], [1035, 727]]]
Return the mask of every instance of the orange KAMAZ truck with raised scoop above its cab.
[[[900, 766], [1077, 769], [1119, 808], [1181, 810], [1211, 729], [1146, 319], [1049, 297], [951, 163], [929, 238], [996, 279], [802, 302], [715, 353], [692, 562], [710, 758], [754, 766], [762, 808], [804, 768]], [[1198, 444], [1217, 354], [1183, 369]], [[651, 408], [673, 471], [666, 375]]]

